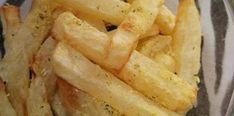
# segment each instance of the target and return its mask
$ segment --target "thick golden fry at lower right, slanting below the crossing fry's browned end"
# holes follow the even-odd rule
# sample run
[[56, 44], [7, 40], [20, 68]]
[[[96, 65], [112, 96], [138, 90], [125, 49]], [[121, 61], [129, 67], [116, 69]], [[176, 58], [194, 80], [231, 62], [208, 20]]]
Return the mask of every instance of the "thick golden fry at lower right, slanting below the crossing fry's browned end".
[[118, 77], [156, 103], [176, 111], [188, 111], [196, 91], [166, 68], [134, 51]]

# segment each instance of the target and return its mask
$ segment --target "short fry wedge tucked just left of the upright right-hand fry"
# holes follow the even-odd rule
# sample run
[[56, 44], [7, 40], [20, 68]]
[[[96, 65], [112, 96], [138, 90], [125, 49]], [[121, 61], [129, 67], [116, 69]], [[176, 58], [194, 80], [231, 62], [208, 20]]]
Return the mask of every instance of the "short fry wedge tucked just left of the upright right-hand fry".
[[158, 35], [149, 37], [139, 42], [137, 50], [166, 67], [169, 71], [175, 72], [175, 60], [171, 56], [173, 54], [171, 41], [171, 36]]

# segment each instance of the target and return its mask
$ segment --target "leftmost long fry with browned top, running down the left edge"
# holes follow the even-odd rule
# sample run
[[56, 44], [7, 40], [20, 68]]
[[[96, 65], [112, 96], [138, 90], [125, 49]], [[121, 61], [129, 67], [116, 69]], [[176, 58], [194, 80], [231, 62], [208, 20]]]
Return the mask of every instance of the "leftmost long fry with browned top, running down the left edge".
[[9, 92], [9, 100], [15, 112], [18, 116], [24, 116], [26, 114], [25, 100], [28, 91], [29, 69], [27, 56], [22, 49], [23, 41], [15, 38], [21, 22], [19, 8], [2, 7], [1, 19], [4, 22], [6, 54], [0, 62], [0, 77], [6, 82], [6, 90]]

